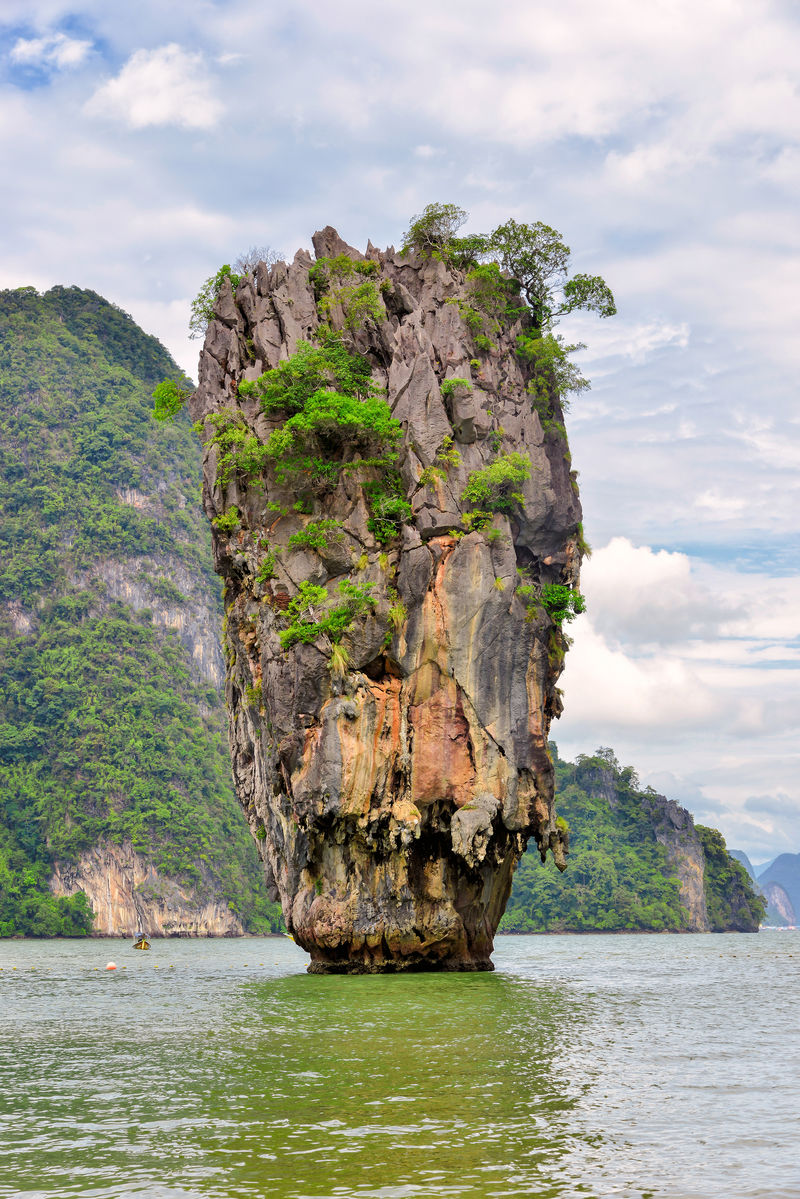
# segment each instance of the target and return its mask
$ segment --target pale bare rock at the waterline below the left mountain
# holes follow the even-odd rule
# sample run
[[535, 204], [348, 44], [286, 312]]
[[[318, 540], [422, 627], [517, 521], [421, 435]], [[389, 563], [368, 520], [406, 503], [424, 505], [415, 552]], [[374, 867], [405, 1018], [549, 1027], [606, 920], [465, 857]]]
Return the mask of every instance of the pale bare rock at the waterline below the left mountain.
[[228, 905], [207, 888], [203, 897], [158, 874], [130, 845], [98, 843], [77, 862], [55, 862], [50, 890], [56, 896], [83, 891], [95, 914], [95, 936], [241, 936], [243, 928]]

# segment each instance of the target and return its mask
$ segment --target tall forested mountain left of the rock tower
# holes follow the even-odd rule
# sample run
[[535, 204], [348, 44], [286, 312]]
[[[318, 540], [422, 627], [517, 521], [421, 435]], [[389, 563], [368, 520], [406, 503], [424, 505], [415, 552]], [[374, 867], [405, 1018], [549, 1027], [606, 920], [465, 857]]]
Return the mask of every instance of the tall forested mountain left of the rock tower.
[[95, 293], [0, 293], [0, 935], [88, 932], [83, 892], [106, 932], [279, 927], [230, 779], [199, 447], [150, 417], [166, 375]]

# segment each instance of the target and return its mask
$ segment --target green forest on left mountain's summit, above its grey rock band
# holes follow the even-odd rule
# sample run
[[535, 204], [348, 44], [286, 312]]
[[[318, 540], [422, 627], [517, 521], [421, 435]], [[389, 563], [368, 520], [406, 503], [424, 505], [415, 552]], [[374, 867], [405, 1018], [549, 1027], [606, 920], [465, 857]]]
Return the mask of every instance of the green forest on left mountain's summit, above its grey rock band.
[[[168, 372], [163, 347], [91, 291], [1, 294], [0, 602], [32, 607], [103, 558], [167, 552], [216, 590], [199, 510], [181, 507], [197, 492], [191, 427], [150, 417]], [[164, 481], [157, 519], [124, 499]]]

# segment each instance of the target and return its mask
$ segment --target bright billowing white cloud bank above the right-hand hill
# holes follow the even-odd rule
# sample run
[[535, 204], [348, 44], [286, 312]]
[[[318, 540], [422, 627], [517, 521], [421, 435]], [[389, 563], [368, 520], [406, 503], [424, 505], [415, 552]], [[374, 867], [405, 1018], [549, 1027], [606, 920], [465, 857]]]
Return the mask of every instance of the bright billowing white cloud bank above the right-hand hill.
[[573, 626], [553, 728], [561, 753], [610, 745], [729, 844], [796, 849], [800, 577], [615, 538], [585, 564], [582, 590], [589, 610]]

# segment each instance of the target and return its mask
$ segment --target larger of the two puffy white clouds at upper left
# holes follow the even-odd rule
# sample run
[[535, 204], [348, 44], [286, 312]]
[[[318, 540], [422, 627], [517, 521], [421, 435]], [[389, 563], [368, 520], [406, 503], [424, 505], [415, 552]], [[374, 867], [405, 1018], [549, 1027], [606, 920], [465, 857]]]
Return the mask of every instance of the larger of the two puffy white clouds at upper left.
[[210, 129], [222, 115], [222, 104], [213, 95], [204, 56], [172, 42], [132, 54], [116, 78], [97, 89], [85, 112], [134, 129], [149, 125]]

